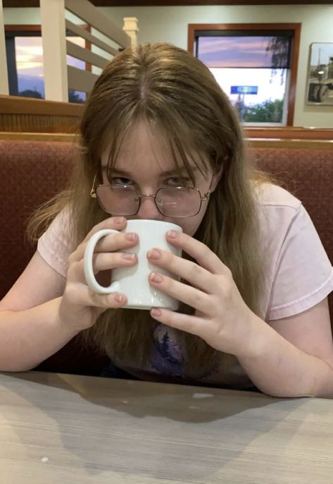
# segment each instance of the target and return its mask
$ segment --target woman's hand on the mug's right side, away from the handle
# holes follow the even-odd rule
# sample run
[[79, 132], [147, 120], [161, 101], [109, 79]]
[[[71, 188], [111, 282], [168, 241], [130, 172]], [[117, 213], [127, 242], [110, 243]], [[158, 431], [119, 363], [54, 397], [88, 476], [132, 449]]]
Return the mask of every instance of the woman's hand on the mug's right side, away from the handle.
[[151, 316], [165, 325], [196, 334], [219, 351], [236, 356], [246, 353], [252, 322], [257, 317], [241, 298], [231, 271], [207, 246], [187, 234], [175, 232], [175, 237], [167, 235], [167, 240], [197, 263], [159, 249], [150, 250], [147, 258], [191, 285], [159, 272], [150, 274], [149, 283], [196, 311], [194, 315], [185, 315], [158, 308], [151, 310]]

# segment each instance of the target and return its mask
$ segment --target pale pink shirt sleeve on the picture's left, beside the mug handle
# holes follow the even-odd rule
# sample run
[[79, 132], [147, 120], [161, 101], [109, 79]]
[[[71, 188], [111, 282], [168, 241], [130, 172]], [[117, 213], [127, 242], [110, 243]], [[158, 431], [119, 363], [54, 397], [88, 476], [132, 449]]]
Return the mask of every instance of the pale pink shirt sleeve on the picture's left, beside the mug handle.
[[67, 277], [68, 257], [73, 252], [69, 211], [62, 210], [37, 243], [37, 252], [58, 274]]

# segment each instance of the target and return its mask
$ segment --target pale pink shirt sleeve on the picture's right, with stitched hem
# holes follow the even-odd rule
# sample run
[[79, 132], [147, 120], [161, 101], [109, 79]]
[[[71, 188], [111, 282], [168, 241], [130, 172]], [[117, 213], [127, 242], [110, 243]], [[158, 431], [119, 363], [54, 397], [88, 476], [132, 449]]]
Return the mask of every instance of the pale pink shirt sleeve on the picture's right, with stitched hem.
[[300, 205], [279, 251], [267, 320], [302, 313], [332, 290], [332, 265], [308, 212]]

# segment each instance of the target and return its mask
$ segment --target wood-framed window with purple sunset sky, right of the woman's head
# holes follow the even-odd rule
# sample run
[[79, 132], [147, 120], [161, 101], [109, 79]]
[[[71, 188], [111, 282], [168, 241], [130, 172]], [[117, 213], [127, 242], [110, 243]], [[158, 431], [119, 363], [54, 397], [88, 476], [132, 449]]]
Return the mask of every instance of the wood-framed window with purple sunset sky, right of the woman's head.
[[245, 125], [292, 125], [298, 25], [189, 26], [189, 50], [210, 68]]

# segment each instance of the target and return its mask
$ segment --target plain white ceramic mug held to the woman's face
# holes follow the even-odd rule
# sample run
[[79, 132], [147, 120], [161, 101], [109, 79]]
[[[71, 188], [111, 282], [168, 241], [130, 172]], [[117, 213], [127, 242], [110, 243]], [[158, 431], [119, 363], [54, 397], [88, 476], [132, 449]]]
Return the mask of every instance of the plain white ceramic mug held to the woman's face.
[[172, 279], [176, 277], [162, 268], [156, 267], [147, 259], [146, 255], [151, 248], [160, 248], [168, 250], [172, 254], [181, 257], [182, 251], [171, 246], [166, 241], [166, 234], [170, 230], [182, 231], [182, 228], [169, 222], [160, 220], [127, 220], [127, 226], [122, 232], [134, 232], [139, 236], [139, 243], [132, 248], [122, 249], [121, 252], [127, 252], [137, 255], [137, 264], [132, 267], [115, 267], [111, 272], [111, 285], [108, 287], [101, 286], [94, 276], [92, 258], [96, 243], [104, 236], [116, 234], [118, 231], [113, 229], [103, 229], [94, 234], [88, 241], [84, 251], [84, 276], [88, 286], [99, 294], [109, 294], [120, 292], [127, 296], [125, 308], [131, 309], [151, 309], [151, 308], [168, 308], [177, 310], [178, 301], [175, 298], [163, 294], [153, 288], [148, 281], [149, 274], [155, 270], [166, 274]]

